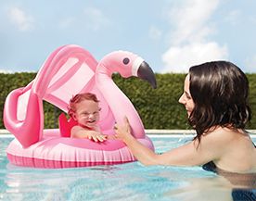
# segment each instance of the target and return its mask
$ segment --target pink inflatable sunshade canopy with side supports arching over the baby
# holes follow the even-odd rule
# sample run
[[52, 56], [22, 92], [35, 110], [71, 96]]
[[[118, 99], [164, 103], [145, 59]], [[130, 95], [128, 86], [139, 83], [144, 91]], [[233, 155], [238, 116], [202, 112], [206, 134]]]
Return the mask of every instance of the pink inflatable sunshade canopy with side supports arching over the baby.
[[[67, 112], [72, 95], [83, 92], [94, 93], [100, 100], [100, 123], [106, 117], [114, 121], [109, 115], [108, 104], [96, 88], [96, 66], [96, 59], [82, 47], [73, 44], [59, 47], [45, 60], [31, 83], [7, 96], [4, 111], [6, 129], [23, 146], [34, 144], [41, 139], [44, 130], [43, 100]], [[31, 128], [34, 128], [33, 132]]]

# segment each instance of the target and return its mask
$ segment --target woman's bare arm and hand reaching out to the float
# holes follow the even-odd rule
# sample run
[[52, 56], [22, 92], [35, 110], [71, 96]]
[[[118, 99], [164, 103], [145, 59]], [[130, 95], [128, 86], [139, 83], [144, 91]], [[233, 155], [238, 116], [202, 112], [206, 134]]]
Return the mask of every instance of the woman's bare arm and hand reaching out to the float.
[[211, 137], [203, 136], [199, 145], [198, 141], [192, 141], [158, 155], [143, 144], [140, 144], [134, 138], [127, 118], [124, 119], [124, 125], [116, 124], [115, 130], [116, 137], [122, 139], [122, 141], [127, 144], [134, 157], [144, 165], [202, 165], [221, 155], [221, 151], [219, 151], [220, 148], [216, 147], [214, 142], [210, 139]]

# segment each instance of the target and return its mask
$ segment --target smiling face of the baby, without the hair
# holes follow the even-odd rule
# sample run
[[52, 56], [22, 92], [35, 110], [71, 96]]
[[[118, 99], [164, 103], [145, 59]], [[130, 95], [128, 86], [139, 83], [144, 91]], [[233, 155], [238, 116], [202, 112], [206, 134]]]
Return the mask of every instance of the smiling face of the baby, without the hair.
[[93, 128], [99, 120], [98, 103], [93, 100], [83, 100], [76, 105], [75, 117], [81, 126]]

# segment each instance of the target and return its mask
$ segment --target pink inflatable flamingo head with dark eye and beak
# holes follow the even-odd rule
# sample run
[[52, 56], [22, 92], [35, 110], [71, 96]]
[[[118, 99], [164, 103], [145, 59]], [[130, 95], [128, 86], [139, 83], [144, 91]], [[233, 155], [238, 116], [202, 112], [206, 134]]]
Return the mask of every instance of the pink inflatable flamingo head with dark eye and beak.
[[98, 63], [98, 70], [104, 70], [104, 73], [109, 76], [113, 72], [118, 72], [124, 78], [131, 76], [146, 80], [155, 89], [157, 88], [156, 77], [153, 70], [149, 67], [142, 57], [135, 55], [128, 51], [114, 51], [109, 53], [106, 57]]

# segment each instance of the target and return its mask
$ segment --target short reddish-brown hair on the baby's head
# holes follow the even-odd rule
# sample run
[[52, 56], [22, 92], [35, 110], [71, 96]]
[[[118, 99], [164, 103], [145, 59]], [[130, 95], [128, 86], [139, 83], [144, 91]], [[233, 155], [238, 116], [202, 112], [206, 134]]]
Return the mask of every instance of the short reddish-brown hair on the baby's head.
[[96, 98], [96, 94], [92, 93], [83, 93], [83, 94], [76, 94], [70, 99], [70, 104], [68, 106], [68, 114], [70, 117], [73, 117], [73, 114], [76, 111], [76, 105], [83, 100], [92, 100], [95, 101], [96, 103], [99, 102], [99, 100]]

